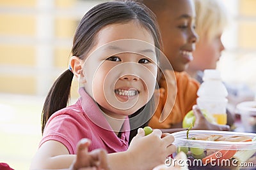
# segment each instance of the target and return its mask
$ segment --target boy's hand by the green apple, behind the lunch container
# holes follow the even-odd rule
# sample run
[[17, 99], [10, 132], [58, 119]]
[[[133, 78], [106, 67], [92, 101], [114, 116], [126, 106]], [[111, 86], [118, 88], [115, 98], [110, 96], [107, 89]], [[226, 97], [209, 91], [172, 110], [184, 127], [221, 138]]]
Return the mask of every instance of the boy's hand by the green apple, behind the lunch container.
[[200, 129], [200, 130], [212, 130], [212, 131], [230, 131], [229, 125], [218, 125], [218, 124], [211, 124], [206, 120], [204, 115], [202, 114], [201, 110], [198, 106], [193, 106], [193, 112], [195, 115], [195, 124], [192, 129]]

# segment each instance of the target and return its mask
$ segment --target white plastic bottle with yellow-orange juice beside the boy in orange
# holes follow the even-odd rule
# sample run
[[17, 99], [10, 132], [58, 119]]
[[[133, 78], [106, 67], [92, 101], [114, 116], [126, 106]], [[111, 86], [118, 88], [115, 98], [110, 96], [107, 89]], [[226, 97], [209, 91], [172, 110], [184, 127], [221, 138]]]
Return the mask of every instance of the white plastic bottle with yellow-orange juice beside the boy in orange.
[[198, 89], [196, 103], [215, 118], [217, 124], [227, 124], [228, 92], [216, 69], [205, 69], [203, 83]]

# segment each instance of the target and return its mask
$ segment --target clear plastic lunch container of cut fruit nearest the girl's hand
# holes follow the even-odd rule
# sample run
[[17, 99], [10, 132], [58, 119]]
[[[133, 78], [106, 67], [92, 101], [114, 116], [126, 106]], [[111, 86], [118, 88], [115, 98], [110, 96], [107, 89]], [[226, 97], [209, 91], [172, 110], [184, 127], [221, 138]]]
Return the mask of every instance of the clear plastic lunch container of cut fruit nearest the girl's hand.
[[[189, 169], [256, 169], [256, 134], [227, 131], [191, 130], [175, 132], [173, 145], [177, 147], [173, 156], [186, 153]], [[195, 139], [198, 135], [214, 141]], [[246, 136], [244, 141], [218, 141], [218, 139]], [[250, 137], [250, 138], [249, 138]], [[249, 139], [248, 139], [249, 138]], [[169, 161], [179, 163], [179, 160]], [[174, 165], [168, 165], [174, 166]]]

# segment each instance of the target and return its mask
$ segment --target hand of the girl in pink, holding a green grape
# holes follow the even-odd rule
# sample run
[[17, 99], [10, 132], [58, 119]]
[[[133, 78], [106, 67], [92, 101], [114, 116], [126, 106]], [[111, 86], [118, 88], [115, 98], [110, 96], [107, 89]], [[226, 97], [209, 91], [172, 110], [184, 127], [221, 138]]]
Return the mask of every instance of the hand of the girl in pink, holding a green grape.
[[173, 141], [172, 135], [162, 134], [159, 129], [154, 129], [151, 134], [145, 136], [145, 132], [140, 128], [127, 153], [134, 164], [141, 165], [141, 169], [153, 169], [159, 164], [164, 164], [166, 157], [175, 152]]

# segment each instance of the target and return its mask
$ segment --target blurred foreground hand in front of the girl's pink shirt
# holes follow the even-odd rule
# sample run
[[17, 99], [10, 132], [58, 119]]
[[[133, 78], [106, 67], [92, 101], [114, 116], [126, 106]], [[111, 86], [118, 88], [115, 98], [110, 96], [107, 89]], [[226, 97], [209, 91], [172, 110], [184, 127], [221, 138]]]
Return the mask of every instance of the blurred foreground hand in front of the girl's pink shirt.
[[70, 166], [70, 170], [108, 170], [107, 152], [102, 149], [88, 152], [91, 141], [81, 139], [77, 144], [77, 157]]

